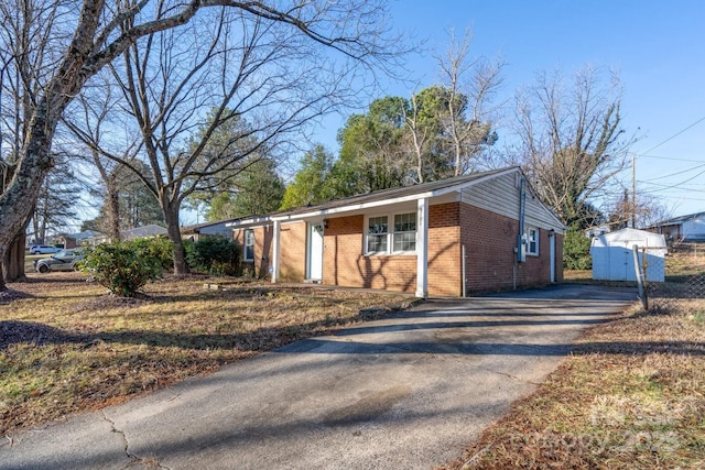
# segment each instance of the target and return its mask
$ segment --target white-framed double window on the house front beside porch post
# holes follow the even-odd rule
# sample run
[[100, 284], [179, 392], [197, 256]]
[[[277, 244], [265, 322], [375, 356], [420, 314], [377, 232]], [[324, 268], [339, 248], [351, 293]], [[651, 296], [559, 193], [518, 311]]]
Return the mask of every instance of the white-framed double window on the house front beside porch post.
[[416, 212], [369, 217], [365, 248], [366, 254], [416, 251]]

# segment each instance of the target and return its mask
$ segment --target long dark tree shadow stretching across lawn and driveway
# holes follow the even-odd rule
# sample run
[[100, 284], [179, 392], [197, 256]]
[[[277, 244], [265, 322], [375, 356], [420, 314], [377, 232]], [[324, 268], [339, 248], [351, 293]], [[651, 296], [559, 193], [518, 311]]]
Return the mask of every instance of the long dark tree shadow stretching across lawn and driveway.
[[[528, 321], [527, 324], [531, 324]], [[83, 343], [86, 346], [107, 342], [122, 345], [144, 345], [151, 347], [177, 347], [184, 349], [228, 349], [265, 351], [294, 341], [330, 334], [339, 321], [317, 323], [281, 327], [260, 328], [242, 334], [188, 335], [154, 331], [116, 331], [91, 335], [70, 334], [42, 324], [6, 320], [0, 321], [0, 350], [12, 343], [31, 342], [37, 346], [48, 343]], [[419, 325], [425, 328], [427, 325]], [[457, 328], [457, 324], [434, 325], [435, 329]], [[343, 330], [346, 336], [360, 334], [356, 328]], [[433, 354], [480, 354], [480, 356], [567, 356], [567, 354], [651, 354], [669, 353], [683, 356], [705, 356], [705, 343], [688, 341], [609, 341], [586, 343], [512, 343], [494, 341], [466, 341], [464, 338], [437, 341], [341, 341], [315, 338], [296, 346], [284, 348], [290, 353], [343, 353], [378, 354], [380, 352], [433, 353]]]

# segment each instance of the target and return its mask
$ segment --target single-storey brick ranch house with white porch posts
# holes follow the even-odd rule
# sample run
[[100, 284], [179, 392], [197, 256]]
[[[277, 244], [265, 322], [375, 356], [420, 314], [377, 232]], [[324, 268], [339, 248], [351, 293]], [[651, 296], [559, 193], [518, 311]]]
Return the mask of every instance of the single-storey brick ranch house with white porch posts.
[[229, 227], [243, 261], [272, 282], [426, 297], [563, 277], [565, 227], [516, 166], [248, 217]]

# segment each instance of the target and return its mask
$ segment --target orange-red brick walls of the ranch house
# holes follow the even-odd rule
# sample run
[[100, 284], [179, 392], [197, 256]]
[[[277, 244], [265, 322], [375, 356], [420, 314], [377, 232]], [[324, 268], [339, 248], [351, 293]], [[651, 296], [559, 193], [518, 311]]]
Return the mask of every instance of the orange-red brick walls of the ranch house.
[[[389, 291], [416, 289], [415, 255], [369, 255], [364, 252], [365, 217], [328, 219], [324, 231], [323, 283]], [[462, 227], [462, 228], [460, 228]], [[462, 203], [429, 208], [429, 294], [459, 296], [462, 245], [466, 247], [467, 293], [547, 284], [550, 282], [549, 231], [540, 229], [539, 256], [516, 262], [519, 222]], [[234, 237], [242, 244], [243, 231]], [[556, 238], [556, 281], [563, 280], [563, 237]], [[267, 256], [262, 259], [262, 255]], [[272, 229], [254, 229], [254, 263], [258, 276], [268, 276], [272, 255]], [[280, 280], [302, 282], [306, 273], [306, 223], [281, 226]]]

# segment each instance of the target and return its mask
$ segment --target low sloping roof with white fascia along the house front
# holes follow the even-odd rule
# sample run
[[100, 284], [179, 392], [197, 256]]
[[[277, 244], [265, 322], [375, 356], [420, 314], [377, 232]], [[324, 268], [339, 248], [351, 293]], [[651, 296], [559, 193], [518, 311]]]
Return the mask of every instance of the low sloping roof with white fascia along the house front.
[[318, 219], [326, 216], [343, 215], [355, 211], [366, 211], [386, 206], [394, 206], [404, 203], [416, 203], [422, 199], [437, 199], [453, 193], [459, 193], [476, 184], [494, 178], [501, 174], [520, 172], [518, 166], [498, 171], [484, 172], [467, 176], [459, 176], [438, 182], [406, 186], [394, 189], [386, 189], [360, 196], [352, 196], [322, 203], [316, 206], [297, 207], [294, 209], [272, 212], [269, 215], [246, 217], [227, 225], [235, 229], [271, 226], [274, 221], [286, 223], [293, 221]]

